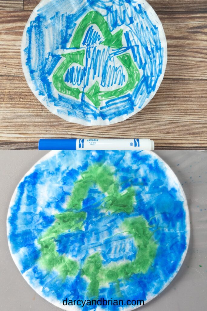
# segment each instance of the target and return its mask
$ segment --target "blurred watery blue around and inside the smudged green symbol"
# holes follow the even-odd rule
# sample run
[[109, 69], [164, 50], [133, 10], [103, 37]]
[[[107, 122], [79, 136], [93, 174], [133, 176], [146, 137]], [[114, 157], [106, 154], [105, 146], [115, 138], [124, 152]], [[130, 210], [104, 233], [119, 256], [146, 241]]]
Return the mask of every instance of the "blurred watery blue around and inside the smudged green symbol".
[[[39, 266], [39, 237], [65, 211], [74, 182], [94, 163], [108, 165], [119, 182], [119, 191], [129, 186], [135, 190], [134, 210], [129, 214], [107, 214], [101, 209], [106, 194], [94, 185], [83, 200], [87, 213], [83, 230], [66, 231], [56, 240], [58, 253], [79, 262], [77, 276], [62, 280], [55, 270]], [[172, 183], [173, 182], [173, 183]], [[121, 224], [128, 217], [144, 217], [158, 244], [156, 257], [145, 274], [121, 279], [121, 297], [116, 284], [102, 286], [99, 298], [144, 299], [157, 295], [175, 276], [187, 248], [185, 198], [174, 175], [154, 153], [146, 151], [60, 151], [34, 166], [34, 170], [17, 187], [8, 217], [9, 244], [21, 273], [42, 295], [62, 303], [68, 299], [87, 299], [88, 281], [81, 276], [81, 267], [92, 253], [100, 252], [103, 265], [133, 261], [137, 246], [132, 236], [124, 233]], [[103, 307], [104, 308], [104, 307]], [[83, 310], [89, 310], [84, 306]], [[118, 310], [110, 306], [110, 310]]]

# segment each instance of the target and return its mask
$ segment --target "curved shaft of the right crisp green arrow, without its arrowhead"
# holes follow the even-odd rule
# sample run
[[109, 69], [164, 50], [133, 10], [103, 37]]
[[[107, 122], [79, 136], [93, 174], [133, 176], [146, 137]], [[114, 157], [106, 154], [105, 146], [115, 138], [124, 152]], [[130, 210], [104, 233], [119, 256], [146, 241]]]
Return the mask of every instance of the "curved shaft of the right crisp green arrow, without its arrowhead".
[[116, 89], [113, 91], [100, 92], [99, 93], [100, 100], [116, 98], [116, 97], [119, 97], [121, 95], [128, 93], [129, 91], [132, 91], [140, 80], [139, 70], [137, 69], [137, 66], [135, 65], [129, 53], [119, 55], [117, 56], [117, 58], [126, 68], [126, 71], [128, 73], [127, 83], [125, 84], [125, 86], [119, 89]]

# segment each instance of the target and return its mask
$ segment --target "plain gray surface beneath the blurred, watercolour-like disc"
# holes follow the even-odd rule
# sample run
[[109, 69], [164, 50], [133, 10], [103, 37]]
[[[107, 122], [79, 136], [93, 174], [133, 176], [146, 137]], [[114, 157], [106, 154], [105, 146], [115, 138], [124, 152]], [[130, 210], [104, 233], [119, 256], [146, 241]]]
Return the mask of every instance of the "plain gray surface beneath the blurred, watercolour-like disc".
[[[24, 174], [47, 152], [0, 151], [0, 309], [57, 311], [26, 283], [7, 244], [6, 218], [11, 196]], [[207, 304], [207, 151], [156, 151], [183, 184], [191, 217], [191, 239], [185, 261], [171, 284], [139, 310], [195, 311]], [[202, 267], [200, 267], [202, 266]]]

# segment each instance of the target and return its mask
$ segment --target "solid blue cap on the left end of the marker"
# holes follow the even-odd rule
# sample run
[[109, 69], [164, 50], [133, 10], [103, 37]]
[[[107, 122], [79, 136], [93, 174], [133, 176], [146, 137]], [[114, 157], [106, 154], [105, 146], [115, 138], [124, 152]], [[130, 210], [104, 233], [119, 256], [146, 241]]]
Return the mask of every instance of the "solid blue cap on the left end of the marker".
[[40, 139], [39, 150], [76, 150], [76, 139]]

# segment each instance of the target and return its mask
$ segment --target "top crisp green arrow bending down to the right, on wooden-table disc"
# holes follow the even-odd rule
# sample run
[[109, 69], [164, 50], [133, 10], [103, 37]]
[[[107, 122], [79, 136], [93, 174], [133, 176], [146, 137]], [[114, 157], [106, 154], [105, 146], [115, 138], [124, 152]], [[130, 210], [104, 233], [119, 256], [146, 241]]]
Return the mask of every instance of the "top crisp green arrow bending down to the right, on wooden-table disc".
[[96, 11], [91, 11], [84, 16], [83, 20], [80, 22], [78, 28], [75, 31], [72, 42], [70, 44], [71, 48], [79, 48], [83, 35], [88, 28], [88, 26], [96, 24], [104, 37], [104, 41], [101, 44], [110, 46], [111, 48], [120, 49], [122, 48], [122, 34], [123, 30], [120, 29], [114, 35], [111, 34], [109, 25], [105, 21], [104, 17]]

